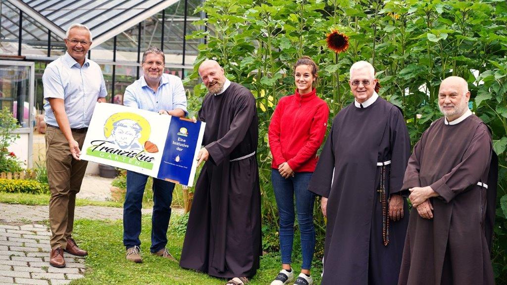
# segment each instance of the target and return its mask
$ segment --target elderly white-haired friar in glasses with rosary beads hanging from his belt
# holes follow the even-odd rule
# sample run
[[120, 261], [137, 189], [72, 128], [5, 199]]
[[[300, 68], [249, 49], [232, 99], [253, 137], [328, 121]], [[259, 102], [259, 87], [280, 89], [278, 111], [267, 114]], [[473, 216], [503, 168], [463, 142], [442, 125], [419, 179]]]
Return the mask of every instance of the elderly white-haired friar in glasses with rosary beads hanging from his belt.
[[354, 102], [333, 120], [308, 186], [322, 196], [328, 217], [322, 285], [398, 281], [408, 224], [400, 191], [410, 140], [402, 112], [375, 92], [376, 83], [370, 63], [352, 65]]

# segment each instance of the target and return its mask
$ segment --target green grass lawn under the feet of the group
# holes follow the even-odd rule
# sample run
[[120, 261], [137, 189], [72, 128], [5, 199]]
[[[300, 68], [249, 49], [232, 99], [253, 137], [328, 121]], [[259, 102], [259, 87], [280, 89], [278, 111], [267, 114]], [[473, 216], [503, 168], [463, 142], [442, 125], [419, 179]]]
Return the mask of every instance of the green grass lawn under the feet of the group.
[[[178, 235], [177, 216], [171, 217], [167, 237], [167, 248], [179, 260], [183, 245], [183, 234]], [[220, 285], [225, 279], [209, 277], [206, 274], [180, 268], [177, 263], [150, 255], [151, 216], [142, 217], [141, 255], [143, 263], [135, 264], [125, 259], [122, 243], [122, 221], [78, 220], [74, 234], [78, 244], [85, 248], [87, 271], [85, 278], [74, 280], [71, 284], [210, 284]], [[278, 253], [268, 254], [261, 259], [261, 268], [249, 284], [266, 285], [272, 281], [280, 269]], [[294, 263], [295, 270], [301, 262]], [[320, 270], [314, 270], [315, 284], [320, 283]], [[318, 274], [317, 274], [318, 272]]]

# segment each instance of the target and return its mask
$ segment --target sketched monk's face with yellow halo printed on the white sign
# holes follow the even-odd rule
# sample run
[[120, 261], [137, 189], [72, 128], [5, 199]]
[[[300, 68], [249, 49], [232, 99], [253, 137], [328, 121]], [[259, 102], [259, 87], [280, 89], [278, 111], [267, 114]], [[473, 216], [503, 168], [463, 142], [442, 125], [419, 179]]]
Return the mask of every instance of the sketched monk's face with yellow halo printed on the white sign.
[[153, 145], [150, 133], [148, 121], [134, 113], [113, 114], [104, 125], [104, 136], [122, 150], [142, 151], [147, 143]]

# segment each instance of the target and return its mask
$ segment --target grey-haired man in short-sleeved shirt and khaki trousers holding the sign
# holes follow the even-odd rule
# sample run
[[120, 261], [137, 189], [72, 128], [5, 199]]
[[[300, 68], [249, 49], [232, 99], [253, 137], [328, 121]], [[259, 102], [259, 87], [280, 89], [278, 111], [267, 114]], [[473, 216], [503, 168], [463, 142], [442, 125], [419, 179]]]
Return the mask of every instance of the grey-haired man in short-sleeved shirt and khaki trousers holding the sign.
[[47, 100], [46, 167], [51, 191], [49, 264], [54, 267], [65, 267], [63, 251], [87, 255], [71, 237], [76, 194], [88, 163], [79, 156], [95, 103], [105, 101], [107, 95], [100, 66], [86, 58], [91, 43], [91, 32], [86, 26], [70, 25], [65, 34], [67, 51], [48, 64], [42, 76]]

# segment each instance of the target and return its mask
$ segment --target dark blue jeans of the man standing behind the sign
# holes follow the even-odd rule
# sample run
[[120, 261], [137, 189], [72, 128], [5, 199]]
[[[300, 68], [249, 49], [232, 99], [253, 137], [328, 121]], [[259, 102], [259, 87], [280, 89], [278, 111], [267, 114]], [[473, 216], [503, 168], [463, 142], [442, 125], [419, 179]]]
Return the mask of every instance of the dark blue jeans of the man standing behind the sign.
[[[126, 248], [140, 246], [141, 208], [144, 187], [148, 175], [127, 171], [127, 195], [123, 204], [123, 244]], [[171, 202], [174, 183], [153, 179], [152, 246], [156, 253], [167, 244], [167, 228], [171, 218]]]

